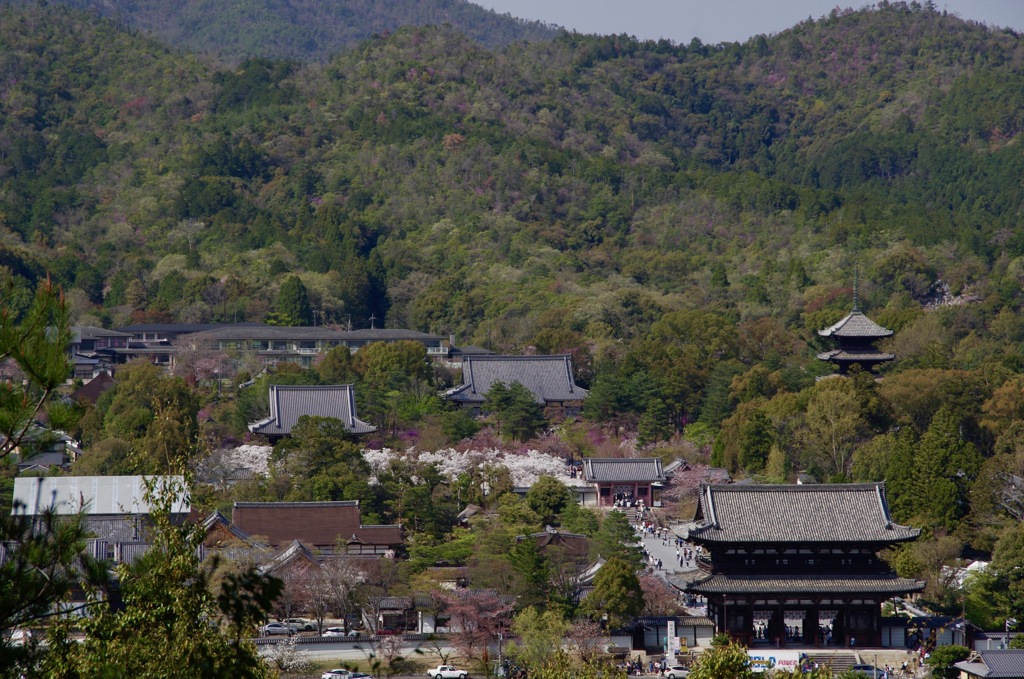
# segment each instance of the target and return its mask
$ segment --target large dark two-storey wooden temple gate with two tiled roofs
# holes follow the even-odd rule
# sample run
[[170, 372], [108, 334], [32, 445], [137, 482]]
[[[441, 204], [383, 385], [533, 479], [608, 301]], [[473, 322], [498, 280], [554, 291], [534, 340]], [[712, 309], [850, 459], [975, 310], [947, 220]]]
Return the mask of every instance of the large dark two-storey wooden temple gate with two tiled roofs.
[[706, 597], [717, 631], [745, 645], [756, 619], [776, 645], [793, 640], [787, 620], [804, 621], [802, 645], [820, 645], [823, 627], [841, 645], [894, 643], [882, 603], [925, 588], [879, 558], [921, 534], [893, 521], [884, 483], [702, 483], [693, 521], [687, 539], [708, 555], [685, 591]]

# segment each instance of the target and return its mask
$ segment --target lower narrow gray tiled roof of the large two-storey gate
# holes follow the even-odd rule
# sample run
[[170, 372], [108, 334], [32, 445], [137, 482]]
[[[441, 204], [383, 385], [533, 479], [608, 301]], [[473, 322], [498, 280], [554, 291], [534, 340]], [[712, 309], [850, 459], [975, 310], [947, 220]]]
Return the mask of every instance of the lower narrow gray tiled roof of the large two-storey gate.
[[897, 576], [712, 576], [685, 588], [694, 594], [907, 594], [925, 582]]

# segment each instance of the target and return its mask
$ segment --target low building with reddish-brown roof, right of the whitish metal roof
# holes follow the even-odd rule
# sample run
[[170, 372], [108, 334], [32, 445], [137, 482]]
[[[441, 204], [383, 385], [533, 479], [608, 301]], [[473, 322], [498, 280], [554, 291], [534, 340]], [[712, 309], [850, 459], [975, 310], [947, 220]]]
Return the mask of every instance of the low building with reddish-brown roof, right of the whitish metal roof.
[[400, 525], [362, 525], [357, 500], [237, 502], [232, 523], [271, 547], [298, 540], [325, 554], [340, 545], [349, 554], [385, 554], [401, 547]]

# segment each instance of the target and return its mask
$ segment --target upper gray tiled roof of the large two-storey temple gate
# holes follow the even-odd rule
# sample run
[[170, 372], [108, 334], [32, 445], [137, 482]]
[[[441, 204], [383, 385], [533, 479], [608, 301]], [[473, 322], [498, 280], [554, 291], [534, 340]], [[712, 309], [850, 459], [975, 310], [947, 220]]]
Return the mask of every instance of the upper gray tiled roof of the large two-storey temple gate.
[[701, 484], [689, 539], [698, 543], [896, 543], [921, 531], [897, 525], [884, 483]]

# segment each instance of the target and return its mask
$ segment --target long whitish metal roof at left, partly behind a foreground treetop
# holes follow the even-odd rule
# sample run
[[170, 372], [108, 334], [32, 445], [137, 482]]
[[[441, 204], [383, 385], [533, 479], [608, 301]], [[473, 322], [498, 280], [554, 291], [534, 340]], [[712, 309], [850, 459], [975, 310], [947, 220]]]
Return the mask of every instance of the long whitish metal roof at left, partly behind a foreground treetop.
[[14, 479], [11, 513], [34, 516], [52, 507], [58, 514], [74, 514], [85, 508], [87, 514], [148, 514], [145, 482], [152, 479], [157, 489], [175, 490], [171, 513], [186, 514], [188, 492], [183, 476], [50, 476]]

